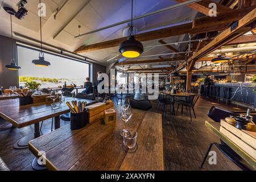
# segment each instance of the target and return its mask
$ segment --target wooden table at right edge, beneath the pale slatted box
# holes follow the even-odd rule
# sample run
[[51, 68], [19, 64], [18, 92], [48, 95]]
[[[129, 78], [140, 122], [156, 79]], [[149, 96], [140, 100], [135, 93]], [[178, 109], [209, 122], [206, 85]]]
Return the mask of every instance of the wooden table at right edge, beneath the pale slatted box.
[[256, 160], [251, 158], [249, 154], [243, 151], [240, 147], [237, 146], [237, 144], [232, 142], [229, 138], [225, 137], [225, 135], [220, 132], [220, 123], [205, 121], [205, 125], [221, 140], [223, 140], [230, 148], [232, 148], [232, 150], [234, 150], [243, 160], [250, 164], [253, 169], [256, 170]]

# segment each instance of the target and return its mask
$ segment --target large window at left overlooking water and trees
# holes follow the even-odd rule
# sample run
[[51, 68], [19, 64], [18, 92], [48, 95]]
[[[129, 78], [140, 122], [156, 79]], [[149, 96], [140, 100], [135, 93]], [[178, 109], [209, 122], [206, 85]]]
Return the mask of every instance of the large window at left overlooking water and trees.
[[76, 84], [84, 85], [85, 78], [89, 77], [87, 63], [73, 59], [44, 53], [44, 57], [51, 63], [49, 67], [36, 67], [32, 60], [38, 59], [38, 51], [23, 46], [18, 46], [18, 61], [22, 69], [19, 70], [19, 86], [24, 86], [27, 81], [40, 82], [41, 88], [56, 88]]

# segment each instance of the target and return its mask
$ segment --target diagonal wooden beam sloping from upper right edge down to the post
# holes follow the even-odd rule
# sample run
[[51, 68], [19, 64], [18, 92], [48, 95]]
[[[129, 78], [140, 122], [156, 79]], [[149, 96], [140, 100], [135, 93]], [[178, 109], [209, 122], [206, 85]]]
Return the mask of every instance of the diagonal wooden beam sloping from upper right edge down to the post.
[[[222, 32], [220, 35], [216, 36], [216, 38], [214, 38], [212, 42], [210, 42], [209, 44], [204, 46], [202, 49], [200, 49], [198, 52], [196, 52], [187, 61], [184, 61], [184, 63], [179, 65], [177, 69], [179, 70], [184, 68], [184, 66], [188, 63], [189, 71], [191, 71], [197, 59], [200, 59], [201, 57], [207, 55], [208, 53], [213, 52], [217, 48], [238, 38], [238, 36], [241, 36], [246, 32], [250, 31], [251, 29], [253, 29], [254, 27], [251, 27], [250, 23], [254, 22], [255, 19], [256, 19], [256, 8], [251, 10], [250, 13], [248, 13], [242, 19], [240, 19], [238, 21], [237, 27], [234, 27], [233, 29], [232, 27], [230, 27], [224, 32]], [[253, 24], [253, 26], [255, 26], [255, 24]]]

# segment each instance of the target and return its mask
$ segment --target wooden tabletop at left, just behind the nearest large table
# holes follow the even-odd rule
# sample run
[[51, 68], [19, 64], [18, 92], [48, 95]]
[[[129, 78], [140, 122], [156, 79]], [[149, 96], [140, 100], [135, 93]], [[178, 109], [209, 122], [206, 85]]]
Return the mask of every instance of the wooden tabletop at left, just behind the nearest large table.
[[[96, 101], [65, 97], [66, 102], [69, 100], [86, 101], [88, 105], [96, 103]], [[20, 106], [18, 98], [0, 101], [0, 117], [18, 128], [29, 126], [68, 112], [69, 107], [64, 102], [61, 103], [60, 109], [52, 110], [51, 104], [46, 104], [46, 102]]]

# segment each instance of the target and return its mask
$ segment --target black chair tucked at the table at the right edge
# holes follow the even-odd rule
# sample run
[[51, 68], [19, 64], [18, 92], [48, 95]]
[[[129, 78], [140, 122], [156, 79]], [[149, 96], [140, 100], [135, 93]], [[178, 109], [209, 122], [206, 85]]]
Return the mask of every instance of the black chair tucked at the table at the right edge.
[[[225, 119], [226, 117], [236, 116], [237, 113], [232, 111], [224, 110], [216, 106], [212, 106], [208, 112], [208, 117], [211, 118], [214, 122], [220, 122], [221, 119]], [[205, 160], [210, 152], [212, 146], [215, 145], [229, 160], [231, 160], [234, 164], [240, 167], [243, 171], [252, 171], [249, 164], [245, 162], [232, 148], [230, 148], [225, 142], [220, 140], [220, 143], [213, 142], [210, 144], [207, 153], [204, 156], [203, 162], [201, 163], [200, 168], [203, 168]]]

